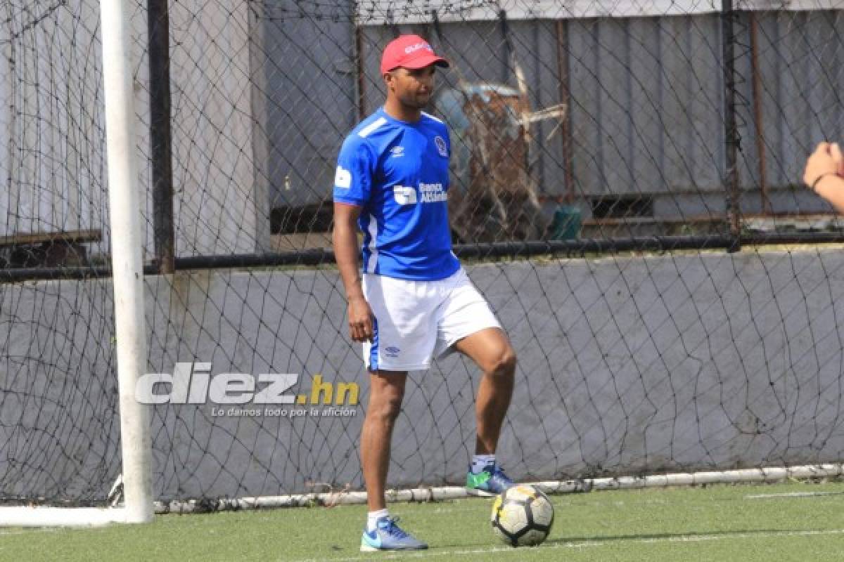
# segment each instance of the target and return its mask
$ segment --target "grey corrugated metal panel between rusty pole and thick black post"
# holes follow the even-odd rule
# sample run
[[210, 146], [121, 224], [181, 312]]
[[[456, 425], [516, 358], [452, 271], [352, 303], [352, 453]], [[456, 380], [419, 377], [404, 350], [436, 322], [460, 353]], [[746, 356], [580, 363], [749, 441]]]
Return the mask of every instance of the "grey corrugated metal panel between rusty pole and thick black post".
[[721, 190], [714, 16], [569, 25], [578, 195]]

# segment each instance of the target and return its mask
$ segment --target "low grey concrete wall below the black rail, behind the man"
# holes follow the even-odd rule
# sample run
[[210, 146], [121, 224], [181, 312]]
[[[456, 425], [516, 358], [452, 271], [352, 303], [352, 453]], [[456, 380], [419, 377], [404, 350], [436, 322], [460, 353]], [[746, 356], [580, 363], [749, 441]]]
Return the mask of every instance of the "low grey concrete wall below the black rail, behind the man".
[[[841, 460], [841, 251], [468, 270], [519, 353], [500, 443], [516, 478]], [[176, 361], [210, 361], [212, 374], [297, 372], [297, 394], [322, 373], [360, 382], [365, 404], [336, 271], [200, 272], [147, 286], [150, 372]], [[2, 286], [0, 305], [3, 494], [103, 494], [119, 466], [109, 284]], [[411, 379], [390, 484], [459, 483], [478, 373], [452, 356]], [[362, 485], [362, 407], [292, 420], [214, 415], [220, 407], [155, 406], [160, 497]]]

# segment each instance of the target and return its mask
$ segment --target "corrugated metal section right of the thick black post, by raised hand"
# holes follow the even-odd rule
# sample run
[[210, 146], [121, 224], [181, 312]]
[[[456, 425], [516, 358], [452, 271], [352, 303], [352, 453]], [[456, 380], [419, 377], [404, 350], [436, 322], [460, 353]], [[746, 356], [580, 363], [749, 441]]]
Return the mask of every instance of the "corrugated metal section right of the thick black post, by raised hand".
[[[817, 142], [844, 140], [844, 13], [755, 13], [765, 169], [774, 212], [828, 211], [800, 185]], [[750, 45], [749, 25], [738, 40]], [[759, 212], [760, 151], [753, 112], [749, 46], [737, 67], [744, 211]]]

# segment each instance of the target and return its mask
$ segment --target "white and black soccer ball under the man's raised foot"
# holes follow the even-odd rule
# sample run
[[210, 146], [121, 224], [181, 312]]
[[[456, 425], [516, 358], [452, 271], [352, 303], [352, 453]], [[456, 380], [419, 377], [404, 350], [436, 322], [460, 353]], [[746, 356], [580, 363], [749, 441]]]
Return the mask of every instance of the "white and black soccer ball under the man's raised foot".
[[495, 497], [492, 530], [511, 546], [536, 546], [551, 532], [554, 506], [536, 486], [519, 484]]

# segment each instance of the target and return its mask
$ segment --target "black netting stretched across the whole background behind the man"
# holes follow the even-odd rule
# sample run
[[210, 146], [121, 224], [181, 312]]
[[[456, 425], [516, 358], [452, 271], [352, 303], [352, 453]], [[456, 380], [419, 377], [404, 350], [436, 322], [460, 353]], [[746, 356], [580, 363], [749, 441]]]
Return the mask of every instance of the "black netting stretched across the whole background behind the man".
[[[162, 4], [132, 13], [149, 372], [193, 385], [154, 406], [158, 498], [362, 486], [331, 186], [405, 32], [452, 62], [429, 109], [457, 254], [519, 356], [513, 476], [841, 459], [844, 237], [800, 185], [844, 137], [840, 3]], [[99, 8], [0, 10], [8, 500], [120, 473]], [[225, 373], [296, 378], [225, 404]], [[463, 478], [478, 377], [412, 375], [390, 484]]]

